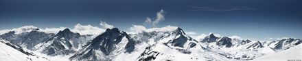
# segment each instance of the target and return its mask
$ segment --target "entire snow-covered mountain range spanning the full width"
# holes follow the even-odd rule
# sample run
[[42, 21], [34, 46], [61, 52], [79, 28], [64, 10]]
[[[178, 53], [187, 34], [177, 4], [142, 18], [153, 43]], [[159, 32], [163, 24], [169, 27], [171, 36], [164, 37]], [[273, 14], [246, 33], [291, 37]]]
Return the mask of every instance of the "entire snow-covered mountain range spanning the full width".
[[[21, 33], [10, 31], [0, 35], [0, 60], [54, 61], [63, 56], [62, 59], [75, 61], [224, 61], [261, 60], [262, 56], [280, 56], [284, 52], [301, 55], [302, 52], [301, 39], [251, 41], [213, 33], [193, 39], [182, 28], [163, 29], [168, 30], [127, 33], [119, 28], [107, 28], [96, 36], [81, 35], [70, 28], [58, 33], [47, 33], [39, 28]], [[288, 51], [291, 49], [296, 52]], [[298, 56], [294, 60], [301, 58]]]

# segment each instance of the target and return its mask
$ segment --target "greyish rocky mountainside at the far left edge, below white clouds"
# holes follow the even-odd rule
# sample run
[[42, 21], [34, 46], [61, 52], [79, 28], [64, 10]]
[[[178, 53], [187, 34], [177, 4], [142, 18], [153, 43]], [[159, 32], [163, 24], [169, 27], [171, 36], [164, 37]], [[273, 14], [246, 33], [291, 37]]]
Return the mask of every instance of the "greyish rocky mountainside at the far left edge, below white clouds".
[[29, 33], [15, 34], [14, 31], [0, 35], [3, 39], [10, 41], [16, 45], [25, 45], [27, 49], [34, 49], [34, 45], [43, 43], [50, 37], [54, 36], [52, 33], [44, 33], [39, 31], [30, 31]]

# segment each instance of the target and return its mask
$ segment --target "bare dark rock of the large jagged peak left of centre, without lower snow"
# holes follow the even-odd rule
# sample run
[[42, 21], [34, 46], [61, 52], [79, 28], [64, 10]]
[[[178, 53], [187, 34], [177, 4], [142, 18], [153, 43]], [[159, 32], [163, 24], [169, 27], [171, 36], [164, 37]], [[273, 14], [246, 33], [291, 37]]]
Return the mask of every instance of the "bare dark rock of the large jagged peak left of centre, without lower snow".
[[[124, 37], [126, 37], [126, 39], [124, 39]], [[126, 43], [126, 46], [124, 47], [124, 49], [126, 49], [126, 52], [133, 52], [135, 49], [136, 41], [130, 39], [126, 32], [121, 32], [118, 28], [106, 29], [104, 33], [98, 35], [91, 42], [84, 45], [83, 48], [85, 49], [81, 49], [81, 52], [75, 53], [75, 55], [71, 56], [70, 59], [83, 60], [87, 58], [93, 58], [93, 61], [100, 60], [97, 59], [98, 56], [95, 55], [95, 51], [100, 50], [105, 56], [108, 56], [111, 54], [111, 52], [117, 49], [117, 46], [121, 46], [119, 45], [119, 43], [124, 40], [128, 41], [128, 43]], [[106, 58], [102, 59], [110, 60]]]

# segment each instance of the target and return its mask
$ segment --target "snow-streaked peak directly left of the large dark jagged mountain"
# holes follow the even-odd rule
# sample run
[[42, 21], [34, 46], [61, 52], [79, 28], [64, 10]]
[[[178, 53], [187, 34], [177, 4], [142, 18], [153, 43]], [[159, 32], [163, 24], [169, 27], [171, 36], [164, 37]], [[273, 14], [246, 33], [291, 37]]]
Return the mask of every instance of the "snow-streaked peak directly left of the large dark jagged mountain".
[[67, 55], [73, 54], [84, 42], [86, 42], [84, 36], [71, 32], [69, 28], [65, 28], [44, 43], [36, 45], [36, 50], [49, 56]]

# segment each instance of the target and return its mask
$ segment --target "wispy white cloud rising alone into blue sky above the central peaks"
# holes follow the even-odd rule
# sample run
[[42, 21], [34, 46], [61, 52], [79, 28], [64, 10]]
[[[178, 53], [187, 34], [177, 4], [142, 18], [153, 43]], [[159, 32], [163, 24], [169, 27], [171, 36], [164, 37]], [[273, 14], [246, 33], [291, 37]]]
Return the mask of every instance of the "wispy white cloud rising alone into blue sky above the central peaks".
[[159, 22], [162, 22], [165, 20], [165, 15], [164, 15], [163, 9], [161, 9], [160, 12], [156, 13], [156, 18], [154, 20], [151, 20], [150, 18], [146, 18], [145, 22], [143, 24], [152, 24], [153, 27], [155, 27]]

